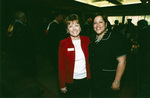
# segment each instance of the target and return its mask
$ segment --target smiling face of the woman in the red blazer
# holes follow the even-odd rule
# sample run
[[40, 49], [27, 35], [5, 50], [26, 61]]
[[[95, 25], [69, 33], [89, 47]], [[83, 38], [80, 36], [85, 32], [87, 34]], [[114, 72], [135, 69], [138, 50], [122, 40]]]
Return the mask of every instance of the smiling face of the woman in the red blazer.
[[80, 31], [81, 27], [77, 20], [71, 21], [67, 26], [67, 32], [70, 33], [72, 38], [79, 37]]

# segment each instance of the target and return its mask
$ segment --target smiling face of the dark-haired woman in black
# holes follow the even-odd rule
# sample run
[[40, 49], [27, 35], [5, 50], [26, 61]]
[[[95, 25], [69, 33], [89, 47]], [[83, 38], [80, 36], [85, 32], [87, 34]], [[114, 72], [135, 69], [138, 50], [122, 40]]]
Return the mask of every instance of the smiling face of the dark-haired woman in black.
[[102, 16], [96, 16], [94, 18], [93, 28], [94, 31], [100, 35], [106, 31], [107, 23], [103, 20]]

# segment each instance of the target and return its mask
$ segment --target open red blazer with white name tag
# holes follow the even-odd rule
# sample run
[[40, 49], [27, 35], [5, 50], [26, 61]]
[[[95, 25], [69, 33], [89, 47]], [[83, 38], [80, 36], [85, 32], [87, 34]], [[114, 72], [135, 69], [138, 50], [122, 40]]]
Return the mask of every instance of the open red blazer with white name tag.
[[[81, 48], [85, 55], [86, 60], [86, 71], [87, 79], [90, 79], [90, 68], [89, 68], [89, 53], [88, 45], [90, 40], [88, 37], [80, 36]], [[59, 86], [60, 88], [65, 87], [65, 83], [73, 83], [73, 72], [75, 65], [75, 48], [72, 43], [71, 37], [68, 37], [60, 41], [59, 52], [58, 52], [58, 75], [59, 75]]]

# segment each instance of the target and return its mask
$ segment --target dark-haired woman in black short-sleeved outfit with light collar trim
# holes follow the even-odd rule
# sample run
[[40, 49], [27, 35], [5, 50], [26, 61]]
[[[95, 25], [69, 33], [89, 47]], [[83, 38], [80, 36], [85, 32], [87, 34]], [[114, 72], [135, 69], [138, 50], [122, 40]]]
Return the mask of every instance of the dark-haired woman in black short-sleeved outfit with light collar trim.
[[95, 16], [94, 41], [89, 45], [92, 98], [116, 98], [126, 66], [126, 43], [120, 33], [111, 32], [107, 17]]

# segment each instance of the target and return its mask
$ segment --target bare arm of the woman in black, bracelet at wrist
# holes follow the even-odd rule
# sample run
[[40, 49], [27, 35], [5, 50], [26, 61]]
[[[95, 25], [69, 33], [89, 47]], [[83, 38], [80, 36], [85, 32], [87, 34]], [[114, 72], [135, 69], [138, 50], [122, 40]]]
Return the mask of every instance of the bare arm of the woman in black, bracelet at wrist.
[[114, 90], [120, 89], [120, 80], [126, 66], [126, 55], [118, 57], [117, 60], [118, 60], [118, 66], [117, 66], [116, 76], [114, 82], [112, 83], [112, 89]]

